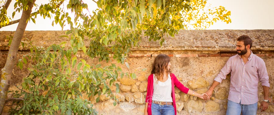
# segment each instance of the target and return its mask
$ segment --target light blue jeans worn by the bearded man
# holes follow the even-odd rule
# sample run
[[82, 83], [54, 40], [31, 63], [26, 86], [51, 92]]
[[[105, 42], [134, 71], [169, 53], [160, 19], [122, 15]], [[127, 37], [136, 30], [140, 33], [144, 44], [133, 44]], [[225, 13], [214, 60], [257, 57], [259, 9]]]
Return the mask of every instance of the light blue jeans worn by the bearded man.
[[[240, 102], [241, 103], [241, 102]], [[258, 110], [258, 102], [250, 105], [238, 104], [233, 101], [227, 101], [227, 115], [256, 115]]]

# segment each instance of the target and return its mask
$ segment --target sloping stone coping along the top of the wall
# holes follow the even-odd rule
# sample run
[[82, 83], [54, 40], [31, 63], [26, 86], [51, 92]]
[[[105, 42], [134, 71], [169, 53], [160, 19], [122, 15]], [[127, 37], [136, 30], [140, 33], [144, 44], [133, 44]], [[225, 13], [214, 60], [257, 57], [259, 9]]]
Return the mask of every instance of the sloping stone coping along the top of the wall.
[[[0, 31], [0, 50], [9, 50], [7, 36], [13, 36], [15, 31]], [[149, 41], [142, 37], [139, 47], [131, 48], [132, 51], [235, 51], [236, 38], [240, 35], [249, 35], [253, 40], [251, 50], [273, 51], [274, 30], [180, 30], [173, 37], [165, 36], [165, 43], [160, 46], [160, 41]], [[59, 44], [70, 41], [68, 38], [59, 37], [65, 31], [25, 31], [22, 41], [32, 41], [33, 45], [47, 47], [50, 44]], [[85, 39], [88, 46], [89, 40]], [[19, 50], [29, 50], [19, 48]]]

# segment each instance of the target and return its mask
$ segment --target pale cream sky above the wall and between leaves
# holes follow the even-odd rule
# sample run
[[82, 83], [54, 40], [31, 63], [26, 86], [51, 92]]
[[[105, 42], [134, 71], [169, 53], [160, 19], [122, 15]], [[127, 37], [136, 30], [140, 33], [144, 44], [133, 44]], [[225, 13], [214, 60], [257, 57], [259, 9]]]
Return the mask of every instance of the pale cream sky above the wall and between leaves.
[[[97, 5], [91, 0], [84, 0], [89, 6], [89, 11], [95, 10]], [[12, 1], [8, 8], [8, 13], [12, 14], [15, 0]], [[40, 3], [39, 3], [40, 2]], [[44, 1], [47, 2], [47, 1]], [[36, 2], [38, 5], [41, 1]], [[274, 0], [208, 0], [211, 7], [223, 6], [228, 11], [231, 11], [231, 23], [216, 22], [207, 29], [240, 29], [240, 30], [253, 30], [253, 29], [274, 29]], [[66, 6], [65, 6], [66, 7]], [[21, 12], [22, 13], [22, 12]], [[89, 12], [86, 12], [89, 13]], [[21, 14], [16, 14], [14, 20], [19, 19]], [[73, 15], [71, 15], [73, 17]], [[26, 30], [61, 30], [59, 25], [51, 26], [52, 19], [44, 19], [37, 15], [36, 24], [32, 21], [28, 23]], [[0, 31], [15, 31], [17, 24], [2, 27]], [[64, 30], [69, 28], [65, 27]]]

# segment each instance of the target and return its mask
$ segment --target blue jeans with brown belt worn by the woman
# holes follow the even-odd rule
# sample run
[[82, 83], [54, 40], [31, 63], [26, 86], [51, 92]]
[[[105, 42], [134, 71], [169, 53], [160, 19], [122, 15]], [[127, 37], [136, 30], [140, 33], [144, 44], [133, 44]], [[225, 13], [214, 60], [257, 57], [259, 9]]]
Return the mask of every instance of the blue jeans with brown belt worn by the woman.
[[152, 103], [151, 105], [152, 115], [174, 115], [173, 105], [159, 105]]

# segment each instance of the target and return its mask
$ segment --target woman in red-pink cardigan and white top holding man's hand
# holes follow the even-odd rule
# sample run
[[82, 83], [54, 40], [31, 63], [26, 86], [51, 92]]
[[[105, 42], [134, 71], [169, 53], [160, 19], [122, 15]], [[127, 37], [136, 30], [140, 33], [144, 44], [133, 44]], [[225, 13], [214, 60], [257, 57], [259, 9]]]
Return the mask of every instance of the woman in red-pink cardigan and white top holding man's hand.
[[156, 56], [151, 75], [148, 77], [145, 115], [176, 115], [174, 85], [182, 92], [203, 99], [170, 73], [170, 58], [165, 54]]

